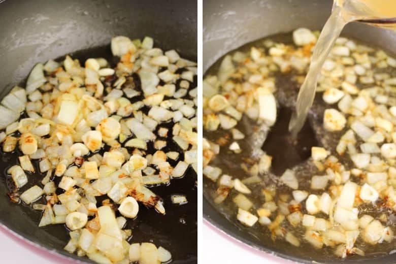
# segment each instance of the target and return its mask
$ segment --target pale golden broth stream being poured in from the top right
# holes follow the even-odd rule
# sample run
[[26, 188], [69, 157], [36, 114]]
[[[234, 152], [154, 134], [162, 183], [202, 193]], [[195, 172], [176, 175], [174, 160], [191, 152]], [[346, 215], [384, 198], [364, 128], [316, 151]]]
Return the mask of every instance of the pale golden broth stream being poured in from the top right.
[[295, 138], [305, 123], [312, 106], [316, 83], [323, 63], [344, 26], [354, 20], [369, 24], [396, 27], [396, 2], [377, 0], [335, 0], [331, 16], [325, 23], [314, 48], [308, 74], [300, 88], [289, 130]]

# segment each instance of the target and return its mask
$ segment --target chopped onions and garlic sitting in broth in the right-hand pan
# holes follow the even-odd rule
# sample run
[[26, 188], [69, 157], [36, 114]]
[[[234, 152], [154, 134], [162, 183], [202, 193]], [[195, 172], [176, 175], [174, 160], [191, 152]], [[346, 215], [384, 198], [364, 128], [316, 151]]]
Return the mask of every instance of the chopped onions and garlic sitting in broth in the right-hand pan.
[[[292, 44], [255, 42], [224, 56], [206, 76], [206, 187], [223, 212], [233, 212], [227, 216], [257, 237], [265, 233], [273, 241], [310, 245], [342, 258], [393, 253], [394, 58], [338, 38], [309, 113], [318, 141], [310, 157], [276, 173], [272, 164], [283, 160], [261, 149], [276, 124], [289, 121], [278, 115], [295, 106], [317, 36], [300, 28]], [[278, 159], [286, 160], [293, 153], [281, 146]]]

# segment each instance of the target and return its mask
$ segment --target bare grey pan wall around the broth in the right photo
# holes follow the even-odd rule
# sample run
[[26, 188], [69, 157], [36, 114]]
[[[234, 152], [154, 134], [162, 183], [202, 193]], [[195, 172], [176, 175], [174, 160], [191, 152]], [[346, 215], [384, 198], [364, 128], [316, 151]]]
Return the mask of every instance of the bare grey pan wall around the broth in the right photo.
[[[290, 32], [298, 27], [321, 29], [330, 14], [333, 1], [321, 0], [281, 0], [281, 1], [207, 1], [204, 2], [203, 18], [203, 71], [225, 53], [243, 44], [278, 33]], [[396, 35], [389, 30], [378, 29], [364, 24], [348, 25], [344, 36], [364, 43], [375, 45], [393, 54], [396, 52]], [[226, 234], [258, 250], [276, 254], [298, 262], [312, 261], [339, 263], [333, 256], [322, 256], [313, 249], [290, 250], [285, 244], [275, 245], [272, 241], [259, 241], [234, 223], [227, 220], [215, 206], [210, 192], [205, 189], [204, 179], [204, 217]], [[370, 258], [366, 260], [346, 259], [343, 262], [394, 263], [396, 256]]]

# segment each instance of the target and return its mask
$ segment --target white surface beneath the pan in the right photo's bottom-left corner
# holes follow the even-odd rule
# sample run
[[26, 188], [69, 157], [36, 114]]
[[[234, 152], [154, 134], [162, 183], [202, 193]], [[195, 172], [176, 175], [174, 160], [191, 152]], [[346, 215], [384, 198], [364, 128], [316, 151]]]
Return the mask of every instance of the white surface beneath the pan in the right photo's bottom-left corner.
[[292, 263], [278, 257], [252, 249], [227, 237], [204, 221], [203, 262], [227, 264], [275, 264]]

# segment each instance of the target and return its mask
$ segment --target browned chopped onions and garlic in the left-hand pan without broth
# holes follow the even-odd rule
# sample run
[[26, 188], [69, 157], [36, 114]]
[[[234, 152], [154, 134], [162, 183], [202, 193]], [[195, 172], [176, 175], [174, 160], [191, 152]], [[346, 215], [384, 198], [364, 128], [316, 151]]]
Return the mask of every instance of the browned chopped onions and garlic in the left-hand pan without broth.
[[[71, 253], [98, 263], [169, 262], [171, 252], [123, 228], [139, 204], [166, 213], [151, 186], [196, 171], [196, 63], [149, 37], [115, 37], [111, 51], [120, 57], [114, 68], [104, 58], [38, 63], [26, 89], [3, 98], [2, 151], [18, 155], [8, 195], [43, 211], [39, 227], [65, 224]], [[187, 202], [182, 193], [168, 201]]]

